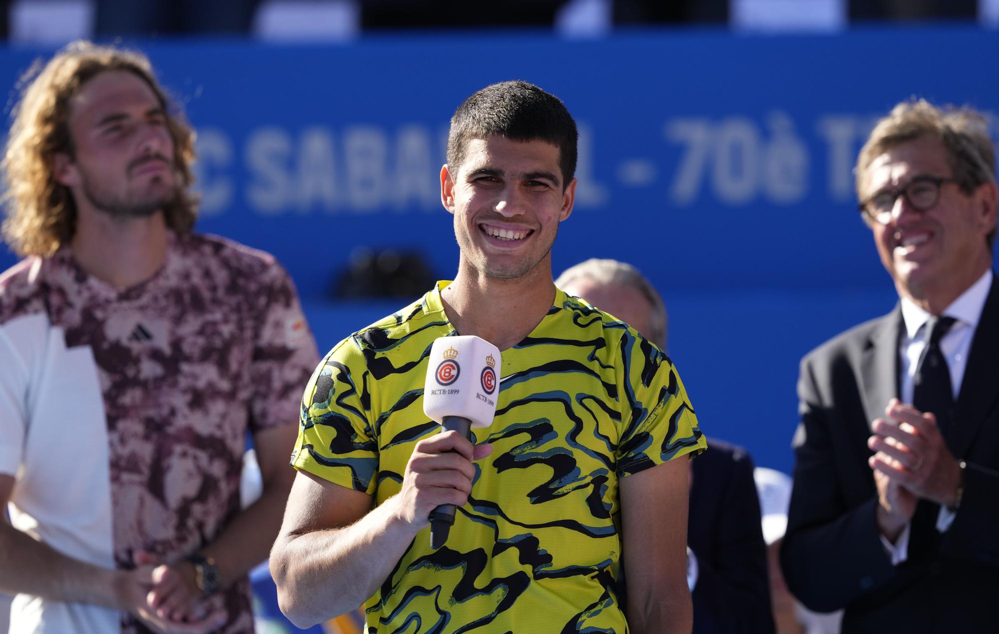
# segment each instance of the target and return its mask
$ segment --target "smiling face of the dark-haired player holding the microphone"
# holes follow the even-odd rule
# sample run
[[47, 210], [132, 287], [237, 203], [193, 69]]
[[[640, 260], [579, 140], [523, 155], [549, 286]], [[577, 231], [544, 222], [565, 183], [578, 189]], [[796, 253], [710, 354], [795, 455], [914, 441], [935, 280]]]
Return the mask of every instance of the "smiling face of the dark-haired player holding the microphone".
[[509, 280], [543, 268], [550, 278], [558, 223], [572, 212], [575, 180], [561, 182], [558, 148], [493, 135], [468, 142], [463, 164], [441, 171], [441, 198], [455, 216], [460, 272]]

